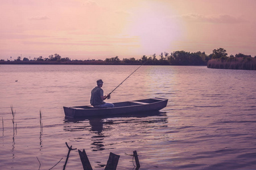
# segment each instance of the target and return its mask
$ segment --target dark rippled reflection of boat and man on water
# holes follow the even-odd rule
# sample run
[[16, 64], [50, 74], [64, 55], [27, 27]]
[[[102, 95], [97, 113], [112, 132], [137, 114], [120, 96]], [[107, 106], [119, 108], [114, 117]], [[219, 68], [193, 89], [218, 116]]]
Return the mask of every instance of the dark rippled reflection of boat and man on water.
[[[154, 117], [148, 118], [148, 120], [143, 119], [139, 120], [138, 118]], [[159, 118], [160, 117], [160, 118]], [[105, 132], [111, 130], [112, 125], [115, 124], [129, 124], [135, 118], [141, 124], [154, 124], [154, 123], [167, 123], [166, 112], [147, 112], [147, 113], [132, 113], [127, 115], [115, 115], [115, 116], [101, 116], [101, 117], [88, 117], [88, 118], [69, 118], [65, 117], [64, 119], [64, 130], [65, 131], [88, 131], [91, 136], [91, 145], [92, 151], [101, 151], [105, 150], [104, 138], [106, 138]], [[109, 135], [109, 134], [108, 134]]]

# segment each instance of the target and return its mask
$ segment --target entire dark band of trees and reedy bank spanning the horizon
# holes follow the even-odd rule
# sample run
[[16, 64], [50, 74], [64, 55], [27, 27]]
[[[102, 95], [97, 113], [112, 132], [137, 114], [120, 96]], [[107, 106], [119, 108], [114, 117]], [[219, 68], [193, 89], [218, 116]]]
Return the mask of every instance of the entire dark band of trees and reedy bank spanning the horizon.
[[[243, 60], [241, 61], [241, 59]], [[244, 59], [245, 58], [245, 59]], [[228, 66], [225, 63], [230, 61], [236, 61], [236, 63], [244, 63], [246, 61], [246, 66]], [[146, 63], [145, 63], [146, 62]], [[119, 59], [118, 56], [112, 58], [101, 59], [87, 59], [87, 60], [71, 60], [69, 57], [61, 57], [59, 54], [54, 54], [48, 58], [43, 58], [42, 56], [34, 59], [28, 59], [24, 57], [23, 59], [19, 56], [14, 61], [7, 61], [1, 59], [0, 64], [28, 64], [28, 65], [182, 65], [182, 66], [208, 66], [209, 68], [220, 68], [220, 69], [247, 69], [247, 65], [252, 65], [250, 68], [255, 70], [255, 57], [246, 56], [244, 54], [236, 54], [236, 56], [229, 56], [226, 50], [223, 48], [214, 49], [212, 54], [205, 54], [205, 52], [190, 53], [185, 51], [176, 51], [173, 53], [161, 53], [159, 56], [156, 54], [148, 56], [142, 56], [140, 59], [123, 58]], [[253, 65], [254, 63], [254, 65]], [[233, 63], [232, 63], [233, 64]], [[225, 66], [224, 66], [225, 65]]]

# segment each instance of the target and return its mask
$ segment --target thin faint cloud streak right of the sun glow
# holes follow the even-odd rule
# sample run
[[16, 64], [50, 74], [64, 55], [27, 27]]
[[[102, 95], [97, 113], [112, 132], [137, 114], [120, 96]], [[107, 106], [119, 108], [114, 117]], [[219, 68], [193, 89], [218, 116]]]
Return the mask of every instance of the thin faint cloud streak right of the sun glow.
[[220, 15], [199, 15], [199, 14], [185, 14], [181, 15], [180, 18], [188, 22], [203, 22], [203, 23], [226, 23], [226, 24], [236, 24], [247, 22], [246, 19], [242, 17], [235, 17], [228, 14]]

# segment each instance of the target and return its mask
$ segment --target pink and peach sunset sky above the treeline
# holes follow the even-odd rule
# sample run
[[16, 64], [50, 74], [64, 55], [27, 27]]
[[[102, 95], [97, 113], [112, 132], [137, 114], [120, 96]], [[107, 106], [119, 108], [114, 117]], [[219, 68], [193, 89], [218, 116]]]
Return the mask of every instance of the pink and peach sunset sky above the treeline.
[[0, 59], [256, 56], [255, 0], [0, 0]]

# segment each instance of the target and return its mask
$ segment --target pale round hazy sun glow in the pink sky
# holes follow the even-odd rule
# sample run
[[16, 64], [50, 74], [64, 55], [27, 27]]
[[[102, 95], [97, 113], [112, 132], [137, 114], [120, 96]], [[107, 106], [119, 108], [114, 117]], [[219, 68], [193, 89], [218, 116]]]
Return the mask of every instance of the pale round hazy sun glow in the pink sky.
[[161, 2], [141, 4], [134, 8], [129, 35], [138, 38], [137, 54], [160, 54], [172, 48], [171, 42], [180, 37], [182, 28], [170, 15], [172, 8]]

